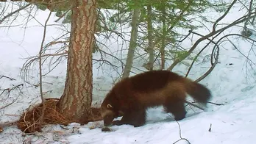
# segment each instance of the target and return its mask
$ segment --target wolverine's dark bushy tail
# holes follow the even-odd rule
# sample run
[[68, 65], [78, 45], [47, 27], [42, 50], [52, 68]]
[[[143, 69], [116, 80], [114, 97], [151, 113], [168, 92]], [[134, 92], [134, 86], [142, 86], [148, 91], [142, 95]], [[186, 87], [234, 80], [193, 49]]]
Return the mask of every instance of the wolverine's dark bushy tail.
[[196, 99], [196, 101], [202, 104], [206, 104], [206, 102], [211, 98], [210, 90], [197, 82], [187, 82], [186, 90], [192, 98]]

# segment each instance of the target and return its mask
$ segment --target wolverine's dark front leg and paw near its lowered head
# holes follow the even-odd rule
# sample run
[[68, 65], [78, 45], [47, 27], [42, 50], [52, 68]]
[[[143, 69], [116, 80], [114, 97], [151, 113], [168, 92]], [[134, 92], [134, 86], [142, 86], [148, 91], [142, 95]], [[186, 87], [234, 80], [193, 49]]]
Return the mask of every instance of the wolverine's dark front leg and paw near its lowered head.
[[129, 124], [135, 127], [142, 126], [146, 122], [145, 109], [133, 109], [130, 112], [125, 112], [121, 120], [115, 120], [113, 123], [117, 126]]

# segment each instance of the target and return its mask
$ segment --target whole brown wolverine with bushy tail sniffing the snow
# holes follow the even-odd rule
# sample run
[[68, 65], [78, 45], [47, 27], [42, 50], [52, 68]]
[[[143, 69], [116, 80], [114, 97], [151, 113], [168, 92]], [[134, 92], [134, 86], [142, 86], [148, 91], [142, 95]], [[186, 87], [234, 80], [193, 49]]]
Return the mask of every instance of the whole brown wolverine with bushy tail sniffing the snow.
[[[171, 112], [175, 120], [182, 120], [186, 114], [186, 93], [202, 104], [211, 97], [210, 90], [202, 84], [171, 71], [148, 71], [122, 79], [102, 102], [104, 126], [142, 126], [146, 120], [146, 108], [160, 105], [166, 112]], [[113, 121], [118, 116], [123, 118]]]

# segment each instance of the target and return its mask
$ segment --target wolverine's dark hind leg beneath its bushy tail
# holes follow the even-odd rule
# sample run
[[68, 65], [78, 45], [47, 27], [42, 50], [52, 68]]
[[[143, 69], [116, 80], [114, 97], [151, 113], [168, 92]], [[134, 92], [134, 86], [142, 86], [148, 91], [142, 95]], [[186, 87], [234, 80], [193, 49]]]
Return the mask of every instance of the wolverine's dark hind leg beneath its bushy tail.
[[171, 112], [174, 115], [175, 120], [182, 120], [185, 118], [186, 111], [184, 106], [185, 93], [182, 90], [175, 90], [171, 93], [171, 96], [166, 98], [166, 102], [163, 105], [166, 112]]

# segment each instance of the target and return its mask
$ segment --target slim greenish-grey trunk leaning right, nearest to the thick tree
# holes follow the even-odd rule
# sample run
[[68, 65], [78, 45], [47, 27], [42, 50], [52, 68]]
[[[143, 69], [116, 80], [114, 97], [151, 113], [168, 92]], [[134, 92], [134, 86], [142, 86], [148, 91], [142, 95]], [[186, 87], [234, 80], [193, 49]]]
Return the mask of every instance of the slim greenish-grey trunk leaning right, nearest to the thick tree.
[[132, 32], [129, 41], [129, 50], [127, 54], [127, 62], [124, 67], [124, 73], [122, 79], [129, 77], [129, 72], [132, 69], [132, 61], [134, 57], [135, 48], [137, 46], [137, 36], [138, 36], [138, 20], [140, 16], [140, 9], [135, 9], [132, 15]]

